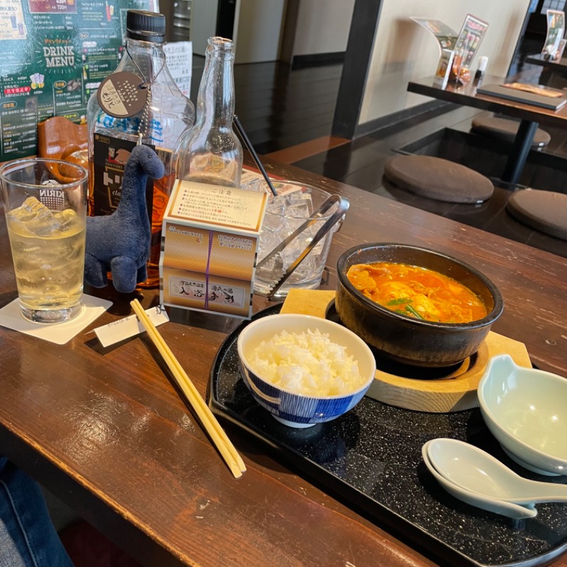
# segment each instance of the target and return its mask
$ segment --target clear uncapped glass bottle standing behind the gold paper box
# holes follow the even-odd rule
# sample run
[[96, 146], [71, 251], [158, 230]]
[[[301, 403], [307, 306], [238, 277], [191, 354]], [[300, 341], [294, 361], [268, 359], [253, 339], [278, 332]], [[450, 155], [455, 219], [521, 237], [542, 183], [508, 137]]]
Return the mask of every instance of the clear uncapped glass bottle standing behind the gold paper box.
[[177, 145], [179, 179], [240, 187], [242, 144], [232, 130], [235, 116], [233, 63], [232, 41], [209, 38], [197, 97], [196, 122]]

